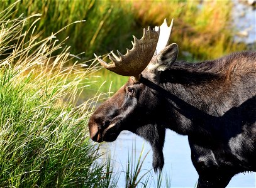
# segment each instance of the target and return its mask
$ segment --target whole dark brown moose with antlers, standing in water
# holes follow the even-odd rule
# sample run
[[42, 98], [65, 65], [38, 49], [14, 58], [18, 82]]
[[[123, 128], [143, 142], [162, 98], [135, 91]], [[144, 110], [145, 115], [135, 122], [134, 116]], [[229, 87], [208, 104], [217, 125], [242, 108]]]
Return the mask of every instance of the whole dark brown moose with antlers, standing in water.
[[94, 54], [104, 68], [130, 77], [89, 118], [90, 137], [113, 142], [122, 130], [143, 137], [157, 171], [170, 128], [188, 135], [197, 187], [226, 187], [234, 175], [256, 171], [256, 52], [178, 61], [178, 45], [168, 45], [172, 23], [133, 36], [125, 55], [109, 53], [111, 63]]

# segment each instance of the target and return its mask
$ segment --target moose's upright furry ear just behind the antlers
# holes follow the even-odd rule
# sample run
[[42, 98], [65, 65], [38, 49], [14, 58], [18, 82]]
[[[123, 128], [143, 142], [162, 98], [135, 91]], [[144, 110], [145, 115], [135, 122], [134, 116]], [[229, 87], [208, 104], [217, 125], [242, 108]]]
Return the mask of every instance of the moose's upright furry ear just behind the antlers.
[[166, 46], [157, 55], [157, 71], [167, 70], [177, 60], [179, 53], [178, 44], [172, 43]]

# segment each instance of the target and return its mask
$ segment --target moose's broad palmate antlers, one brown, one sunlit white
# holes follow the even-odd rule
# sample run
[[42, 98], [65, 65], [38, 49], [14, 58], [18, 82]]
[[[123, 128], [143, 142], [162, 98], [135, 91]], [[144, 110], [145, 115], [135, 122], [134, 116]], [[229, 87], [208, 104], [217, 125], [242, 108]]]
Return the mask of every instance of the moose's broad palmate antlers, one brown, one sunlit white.
[[[162, 30], [167, 34], [162, 34]], [[111, 51], [111, 55], [113, 56], [108, 55], [108, 58], [113, 61], [113, 63], [108, 64], [98, 58], [96, 54], [94, 54], [94, 56], [99, 63], [104, 66], [104, 68], [113, 71], [118, 75], [134, 76], [135, 80], [138, 81], [140, 73], [142, 73], [142, 71], [147, 67], [148, 63], [150, 63], [155, 51], [159, 53], [159, 49], [164, 48], [168, 43], [171, 30], [172, 24], [168, 27], [166, 19], [160, 28], [155, 27], [155, 29], [150, 29], [150, 27], [148, 27], [148, 29], [143, 29], [142, 38], [137, 39], [135, 36], [133, 36], [134, 43], [131, 41], [133, 48], [131, 50], [127, 49], [125, 55], [122, 55], [119, 51], [117, 51], [119, 56], [116, 56], [113, 51]], [[167, 36], [168, 33], [169, 36]], [[161, 41], [161, 44], [158, 44], [159, 35], [160, 38], [165, 37], [165, 43]]]

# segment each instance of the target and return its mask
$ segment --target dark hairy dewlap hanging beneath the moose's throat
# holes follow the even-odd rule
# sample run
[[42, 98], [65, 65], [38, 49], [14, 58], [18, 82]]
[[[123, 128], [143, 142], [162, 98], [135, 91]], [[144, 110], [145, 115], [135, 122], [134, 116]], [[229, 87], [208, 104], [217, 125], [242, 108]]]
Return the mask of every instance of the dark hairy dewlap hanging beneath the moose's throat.
[[136, 135], [143, 137], [147, 140], [153, 151], [153, 169], [162, 170], [164, 167], [164, 140], [165, 140], [165, 127], [162, 125], [148, 124], [143, 127], [139, 127], [135, 130]]

